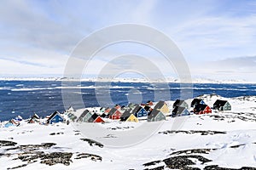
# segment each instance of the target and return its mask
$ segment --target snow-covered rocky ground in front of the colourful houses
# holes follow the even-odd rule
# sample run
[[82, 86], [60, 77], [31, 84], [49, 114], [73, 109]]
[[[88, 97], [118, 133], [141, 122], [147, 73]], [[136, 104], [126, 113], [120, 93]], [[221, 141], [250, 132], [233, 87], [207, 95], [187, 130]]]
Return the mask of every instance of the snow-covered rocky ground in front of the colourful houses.
[[164, 122], [1, 127], [1, 169], [256, 169], [256, 96], [228, 100], [230, 112]]

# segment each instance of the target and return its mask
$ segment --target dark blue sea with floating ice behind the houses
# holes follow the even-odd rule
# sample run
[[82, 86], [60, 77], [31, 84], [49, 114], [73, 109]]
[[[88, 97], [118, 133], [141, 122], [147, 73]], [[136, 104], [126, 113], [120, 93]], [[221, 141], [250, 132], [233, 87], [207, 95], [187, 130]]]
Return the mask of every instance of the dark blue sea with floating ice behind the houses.
[[[144, 82], [61, 82], [50, 81], [0, 81], [0, 121], [15, 116], [28, 118], [34, 113], [46, 116], [54, 111], [65, 111], [94, 106], [127, 105], [129, 102], [148, 100], [175, 100], [186, 96], [218, 94], [224, 97], [256, 95], [256, 84], [162, 84]], [[63, 93], [62, 93], [63, 92]], [[188, 93], [188, 95], [183, 95]], [[63, 95], [65, 94], [64, 98]], [[65, 100], [65, 105], [63, 104]]]

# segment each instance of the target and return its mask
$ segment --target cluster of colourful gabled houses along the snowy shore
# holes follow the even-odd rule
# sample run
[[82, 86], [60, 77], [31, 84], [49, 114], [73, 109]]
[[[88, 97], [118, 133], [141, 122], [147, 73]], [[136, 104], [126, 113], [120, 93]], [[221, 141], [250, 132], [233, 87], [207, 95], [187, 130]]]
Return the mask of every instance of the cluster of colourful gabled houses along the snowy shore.
[[[44, 118], [34, 114], [26, 120], [27, 123], [53, 124], [63, 122], [86, 122], [86, 123], [105, 123], [105, 122], [159, 122], [166, 120], [166, 117], [189, 116], [192, 114], [209, 114], [212, 111], [231, 111], [229, 101], [217, 99], [213, 105], [207, 105], [203, 99], [180, 100], [177, 99], [173, 105], [168, 105], [165, 101], [148, 101], [145, 104], [114, 105], [113, 108], [87, 108], [75, 111], [69, 107], [67, 111], [60, 113], [55, 111]], [[22, 120], [21, 116], [7, 122], [4, 127], [19, 126]]]

